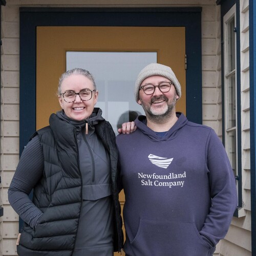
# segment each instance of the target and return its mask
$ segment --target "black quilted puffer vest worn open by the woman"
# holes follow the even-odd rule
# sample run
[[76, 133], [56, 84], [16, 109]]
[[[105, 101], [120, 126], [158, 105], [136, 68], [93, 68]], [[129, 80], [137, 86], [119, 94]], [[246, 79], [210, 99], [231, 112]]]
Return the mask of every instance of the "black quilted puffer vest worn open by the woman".
[[[44, 212], [35, 229], [25, 223], [17, 253], [20, 256], [71, 256], [82, 206], [81, 174], [78, 161], [76, 128], [55, 114], [50, 126], [38, 134], [45, 159], [44, 175], [33, 191], [34, 204]], [[115, 212], [114, 249], [123, 244], [120, 204], [116, 187], [117, 150], [109, 122], [100, 121], [95, 131], [110, 155], [112, 195]]]

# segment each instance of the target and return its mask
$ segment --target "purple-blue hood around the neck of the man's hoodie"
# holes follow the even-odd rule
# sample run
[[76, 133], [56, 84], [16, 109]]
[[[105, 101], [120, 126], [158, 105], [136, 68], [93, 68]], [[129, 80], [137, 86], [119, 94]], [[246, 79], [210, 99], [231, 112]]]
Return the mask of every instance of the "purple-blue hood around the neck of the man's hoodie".
[[188, 122], [187, 118], [180, 112], [176, 112], [176, 116], [178, 117], [177, 122], [170, 128], [169, 131], [163, 137], [160, 137], [155, 131], [151, 130], [146, 125], [146, 117], [140, 115], [136, 118], [135, 124], [139, 128], [139, 130], [148, 136], [148, 138], [152, 141], [166, 141], [172, 140], [177, 136], [177, 132], [184, 127], [184, 125]]

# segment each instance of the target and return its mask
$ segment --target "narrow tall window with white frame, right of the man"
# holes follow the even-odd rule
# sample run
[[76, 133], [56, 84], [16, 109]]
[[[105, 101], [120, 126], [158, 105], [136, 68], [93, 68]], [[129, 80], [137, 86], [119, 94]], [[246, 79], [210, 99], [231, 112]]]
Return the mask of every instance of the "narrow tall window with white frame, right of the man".
[[[241, 166], [241, 94], [240, 94], [240, 40], [237, 27], [236, 5], [233, 5], [223, 16], [223, 138], [233, 174], [237, 180], [238, 206], [242, 207], [242, 166]], [[242, 211], [235, 212], [235, 216], [242, 216]]]

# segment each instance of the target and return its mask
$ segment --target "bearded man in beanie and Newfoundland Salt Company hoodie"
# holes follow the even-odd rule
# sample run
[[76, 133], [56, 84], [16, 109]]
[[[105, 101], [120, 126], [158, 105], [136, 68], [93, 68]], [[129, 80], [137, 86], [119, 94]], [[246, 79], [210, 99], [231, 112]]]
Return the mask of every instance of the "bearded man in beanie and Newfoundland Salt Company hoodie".
[[237, 206], [234, 175], [210, 127], [176, 113], [181, 86], [167, 66], [138, 75], [136, 101], [146, 116], [117, 136], [129, 256], [206, 256], [224, 238]]

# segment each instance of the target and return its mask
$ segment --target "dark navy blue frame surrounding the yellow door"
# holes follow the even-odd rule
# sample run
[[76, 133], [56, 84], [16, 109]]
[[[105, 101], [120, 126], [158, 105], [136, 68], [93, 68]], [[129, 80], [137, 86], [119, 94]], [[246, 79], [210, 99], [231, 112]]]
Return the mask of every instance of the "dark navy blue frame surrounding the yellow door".
[[20, 8], [19, 152], [36, 127], [37, 26], [185, 27], [186, 116], [202, 123], [201, 7]]

